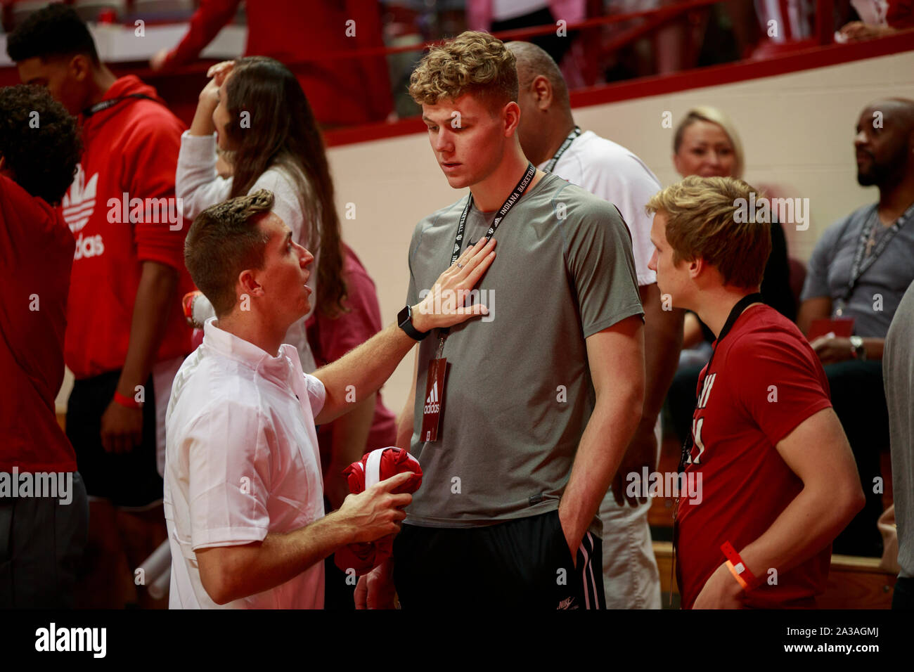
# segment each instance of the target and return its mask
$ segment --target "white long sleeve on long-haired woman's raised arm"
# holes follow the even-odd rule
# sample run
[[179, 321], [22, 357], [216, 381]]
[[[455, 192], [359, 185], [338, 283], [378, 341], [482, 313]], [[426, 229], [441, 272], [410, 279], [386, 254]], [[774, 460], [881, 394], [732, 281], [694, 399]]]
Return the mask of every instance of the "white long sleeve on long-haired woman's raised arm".
[[175, 196], [181, 199], [184, 216], [196, 218], [205, 209], [226, 200], [229, 193], [231, 178], [219, 177], [216, 172], [216, 133], [182, 133], [175, 171]]

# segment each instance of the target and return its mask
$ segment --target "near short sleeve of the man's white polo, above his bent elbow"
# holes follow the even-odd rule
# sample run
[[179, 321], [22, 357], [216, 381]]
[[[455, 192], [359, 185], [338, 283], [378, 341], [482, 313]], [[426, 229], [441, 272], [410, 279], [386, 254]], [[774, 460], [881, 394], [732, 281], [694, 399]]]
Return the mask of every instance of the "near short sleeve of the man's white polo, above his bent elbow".
[[191, 548], [262, 541], [270, 528], [270, 446], [264, 416], [226, 400], [213, 403], [184, 441]]

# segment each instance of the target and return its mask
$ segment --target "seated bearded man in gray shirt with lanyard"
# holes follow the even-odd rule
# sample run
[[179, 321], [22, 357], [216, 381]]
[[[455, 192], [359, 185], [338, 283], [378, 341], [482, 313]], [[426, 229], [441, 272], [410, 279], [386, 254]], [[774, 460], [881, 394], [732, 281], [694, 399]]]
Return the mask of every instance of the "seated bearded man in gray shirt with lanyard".
[[817, 318], [854, 318], [854, 336], [830, 334], [812, 345], [866, 494], [866, 507], [834, 540], [834, 552], [878, 556], [879, 452], [888, 446], [883, 347], [901, 296], [914, 280], [914, 101], [868, 105], [857, 121], [854, 145], [857, 182], [878, 187], [879, 200], [835, 222], [816, 243], [797, 323], [808, 333]]

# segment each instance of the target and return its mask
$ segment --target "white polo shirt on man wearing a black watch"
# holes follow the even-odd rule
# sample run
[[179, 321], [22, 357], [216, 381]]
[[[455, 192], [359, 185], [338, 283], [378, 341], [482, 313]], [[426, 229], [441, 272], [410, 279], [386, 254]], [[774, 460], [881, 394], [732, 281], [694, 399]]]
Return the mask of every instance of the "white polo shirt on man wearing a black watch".
[[200, 581], [195, 551], [262, 541], [324, 516], [314, 430], [324, 384], [303, 373], [294, 347], [271, 357], [214, 322], [178, 370], [165, 420], [169, 607], [323, 608], [323, 562], [221, 606]]

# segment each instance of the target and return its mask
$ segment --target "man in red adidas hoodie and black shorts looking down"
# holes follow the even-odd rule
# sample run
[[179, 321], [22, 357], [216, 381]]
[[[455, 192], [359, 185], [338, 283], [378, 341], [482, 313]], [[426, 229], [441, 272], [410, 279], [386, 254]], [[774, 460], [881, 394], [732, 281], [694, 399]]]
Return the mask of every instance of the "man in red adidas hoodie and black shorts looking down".
[[[65, 357], [67, 435], [90, 496], [87, 606], [135, 601], [133, 568], [165, 539], [165, 408], [190, 352], [191, 288], [175, 198], [182, 124], [152, 87], [116, 79], [85, 24], [48, 5], [9, 36], [23, 82], [80, 115], [85, 151], [62, 214], [76, 236]], [[112, 576], [117, 577], [112, 581]]]

